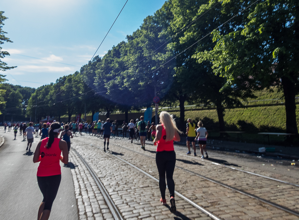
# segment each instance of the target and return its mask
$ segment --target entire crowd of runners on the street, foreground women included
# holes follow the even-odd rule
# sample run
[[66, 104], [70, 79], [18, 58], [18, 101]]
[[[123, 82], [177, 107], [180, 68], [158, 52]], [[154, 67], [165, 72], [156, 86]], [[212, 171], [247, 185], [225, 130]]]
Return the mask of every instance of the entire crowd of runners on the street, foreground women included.
[[[156, 152], [156, 165], [159, 172], [159, 188], [161, 191], [160, 202], [162, 205], [166, 205], [165, 191], [166, 181], [170, 192], [170, 211], [174, 213], [176, 211], [174, 188], [175, 183], [173, 181], [173, 172], [176, 164], [176, 154], [174, 152], [173, 141], [180, 141], [180, 135], [183, 134], [177, 127], [176, 123], [167, 112], [160, 113], [160, 124], [157, 126], [154, 122], [145, 121], [144, 116], [140, 119], [131, 120], [129, 124], [123, 121], [120, 128], [122, 131], [122, 137], [127, 138], [127, 132], [129, 132], [129, 139], [131, 143], [133, 140], [140, 141], [141, 149], [145, 150], [146, 140], [151, 141], [157, 146]], [[105, 121], [93, 121], [85, 122], [69, 122], [61, 124], [53, 123], [4, 123], [4, 132], [8, 127], [8, 132], [13, 128], [15, 140], [19, 131], [20, 135], [23, 135], [23, 141], [27, 139], [26, 151], [30, 152], [30, 148], [33, 143], [34, 135], [36, 138], [40, 137], [40, 141], [36, 147], [33, 162], [40, 162], [37, 171], [37, 180], [39, 188], [44, 196], [44, 199], [39, 207], [38, 219], [48, 219], [51, 212], [51, 207], [56, 197], [60, 181], [61, 170], [59, 161], [62, 161], [66, 166], [68, 164], [68, 153], [71, 148], [71, 138], [77, 135], [82, 135], [82, 132], [86, 135], [95, 136], [97, 138], [103, 138], [104, 152], [109, 150], [109, 139], [118, 136], [118, 121], [110, 122], [110, 118]], [[190, 143], [193, 146], [194, 156], [196, 156], [195, 141], [198, 141], [202, 159], [204, 154], [208, 158], [206, 150], [206, 143], [208, 132], [203, 127], [202, 121], [197, 124], [188, 118], [186, 124], [186, 143], [188, 152], [190, 152]], [[61, 155], [62, 153], [62, 155]], [[53, 157], [47, 157], [47, 156]], [[49, 167], [51, 167], [49, 169]]]

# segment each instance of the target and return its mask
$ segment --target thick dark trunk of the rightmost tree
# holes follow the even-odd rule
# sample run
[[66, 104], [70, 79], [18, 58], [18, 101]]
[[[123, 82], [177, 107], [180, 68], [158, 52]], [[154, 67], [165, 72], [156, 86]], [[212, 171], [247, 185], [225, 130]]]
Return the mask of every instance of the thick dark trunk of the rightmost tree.
[[298, 135], [296, 123], [295, 83], [289, 77], [281, 77], [286, 107], [286, 133]]

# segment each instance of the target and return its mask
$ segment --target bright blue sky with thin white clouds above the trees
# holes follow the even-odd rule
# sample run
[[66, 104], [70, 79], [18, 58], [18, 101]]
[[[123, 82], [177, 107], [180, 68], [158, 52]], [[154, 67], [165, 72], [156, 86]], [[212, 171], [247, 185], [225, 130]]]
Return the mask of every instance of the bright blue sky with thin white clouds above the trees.
[[[1, 72], [8, 83], [37, 88], [73, 74], [91, 59], [126, 0], [7, 0], [2, 44], [15, 69]], [[96, 55], [103, 56], [153, 15], [165, 0], [129, 0]]]

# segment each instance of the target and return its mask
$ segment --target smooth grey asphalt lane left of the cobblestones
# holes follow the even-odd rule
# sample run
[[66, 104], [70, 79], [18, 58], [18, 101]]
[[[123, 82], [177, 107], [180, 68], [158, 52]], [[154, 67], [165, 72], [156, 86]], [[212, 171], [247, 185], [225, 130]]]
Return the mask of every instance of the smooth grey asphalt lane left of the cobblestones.
[[[40, 138], [34, 138], [31, 152], [26, 153], [27, 141], [18, 133], [1, 129], [5, 143], [0, 147], [0, 219], [37, 219], [42, 202], [36, 171], [39, 163], [33, 163], [33, 152]], [[74, 182], [70, 168], [60, 162], [62, 180], [53, 203], [50, 219], [78, 219]]]

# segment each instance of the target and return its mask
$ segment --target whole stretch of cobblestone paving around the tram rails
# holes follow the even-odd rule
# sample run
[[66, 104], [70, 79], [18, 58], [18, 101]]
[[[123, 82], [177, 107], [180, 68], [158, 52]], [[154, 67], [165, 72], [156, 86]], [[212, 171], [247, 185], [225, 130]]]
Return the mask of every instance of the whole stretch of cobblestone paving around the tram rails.
[[[112, 157], [112, 155], [104, 153], [103, 150], [90, 146], [90, 144], [101, 147], [103, 146], [103, 139], [83, 135], [72, 140], [72, 146], [77, 149], [81, 155], [87, 157], [88, 163], [94, 166], [94, 170], [103, 182], [113, 201], [116, 202], [124, 219], [130, 219], [131, 217], [132, 219], [146, 219], [147, 217], [149, 219], [171, 219], [174, 217], [167, 207], [161, 206], [158, 203], [160, 193], [158, 184], [155, 181], [127, 166], [117, 158]], [[143, 151], [139, 149], [138, 145], [131, 144], [127, 140], [113, 138], [110, 139], [109, 147], [114, 154], [117, 154], [124, 160], [127, 160], [158, 179], [155, 160], [120, 148], [117, 145], [134, 149], [151, 157], [155, 156], [155, 148], [153, 146], [146, 145], [147, 150]], [[73, 156], [71, 155], [71, 157]], [[268, 199], [271, 202], [284, 205], [292, 210], [298, 210], [299, 208], [298, 187], [278, 183], [240, 171], [234, 171], [211, 163], [205, 163], [199, 160], [198, 157], [193, 158], [194, 159], [192, 159], [192, 157], [185, 157], [181, 155], [180, 152], [177, 152], [177, 166]], [[80, 178], [81, 171], [79, 168], [72, 172], [78, 173], [76, 178]], [[265, 173], [263, 173], [263, 175], [265, 175]], [[271, 176], [272, 174], [269, 173], [268, 175]], [[75, 175], [73, 176], [75, 177]], [[277, 176], [275, 178], [277, 178]], [[290, 181], [293, 180], [292, 177], [288, 177], [288, 179]], [[179, 193], [193, 200], [221, 219], [298, 219], [297, 216], [286, 213], [283, 210], [266, 205], [180, 169], [175, 170], [174, 180], [176, 190]], [[77, 196], [79, 189], [76, 188], [75, 180], [74, 182]], [[88, 181], [83, 182], [86, 182], [88, 185]], [[80, 184], [80, 187], [82, 187], [84, 191], [86, 185]], [[79, 211], [82, 214], [83, 206], [82, 202], [80, 203], [79, 201], [80, 199], [79, 193], [78, 205]], [[129, 204], [129, 202], [133, 201], [134, 203]], [[148, 205], [142, 207], [144, 202]], [[180, 212], [179, 215], [182, 215], [180, 217], [183, 219], [210, 219], [184, 200], [177, 198], [177, 204], [178, 211]], [[80, 209], [80, 205], [82, 209]], [[139, 208], [140, 205], [141, 208]], [[146, 208], [149, 210], [146, 210]], [[93, 211], [93, 209], [91, 210]], [[149, 212], [147, 217], [144, 212]], [[85, 213], [87, 213], [87, 211], [85, 211]], [[98, 219], [100, 219], [100, 217]]]

